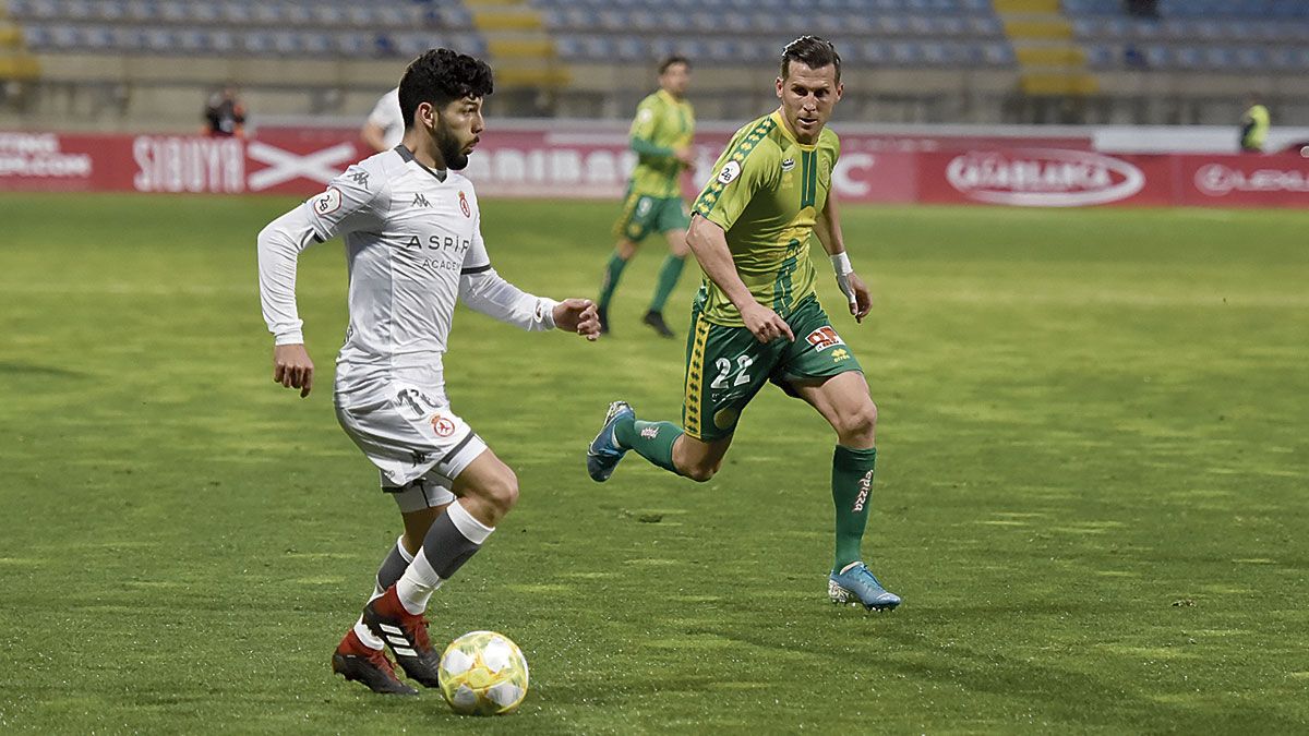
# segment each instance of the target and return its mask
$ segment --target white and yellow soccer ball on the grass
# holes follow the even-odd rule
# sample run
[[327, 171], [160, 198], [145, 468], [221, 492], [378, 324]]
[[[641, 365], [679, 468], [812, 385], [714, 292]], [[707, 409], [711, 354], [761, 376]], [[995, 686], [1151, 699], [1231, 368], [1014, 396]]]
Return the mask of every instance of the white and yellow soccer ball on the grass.
[[470, 631], [445, 647], [440, 680], [454, 712], [512, 712], [528, 694], [528, 660], [504, 634]]

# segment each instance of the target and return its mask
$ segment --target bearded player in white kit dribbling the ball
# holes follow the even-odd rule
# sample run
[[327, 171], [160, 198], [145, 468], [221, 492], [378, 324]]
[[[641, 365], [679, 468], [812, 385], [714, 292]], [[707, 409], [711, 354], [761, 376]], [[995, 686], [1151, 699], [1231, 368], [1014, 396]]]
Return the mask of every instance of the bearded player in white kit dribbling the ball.
[[314, 365], [296, 309], [296, 262], [343, 236], [350, 326], [336, 358], [334, 405], [346, 433], [381, 471], [404, 533], [373, 596], [332, 653], [332, 671], [378, 693], [416, 694], [395, 676], [437, 686], [427, 635], [432, 593], [513, 508], [513, 471], [450, 407], [441, 354], [456, 299], [525, 330], [600, 334], [585, 299], [524, 293], [491, 267], [473, 183], [458, 174], [483, 130], [486, 63], [446, 48], [415, 59], [399, 85], [403, 143], [350, 166], [327, 190], [259, 233], [259, 295], [275, 337], [274, 381], [308, 396]]

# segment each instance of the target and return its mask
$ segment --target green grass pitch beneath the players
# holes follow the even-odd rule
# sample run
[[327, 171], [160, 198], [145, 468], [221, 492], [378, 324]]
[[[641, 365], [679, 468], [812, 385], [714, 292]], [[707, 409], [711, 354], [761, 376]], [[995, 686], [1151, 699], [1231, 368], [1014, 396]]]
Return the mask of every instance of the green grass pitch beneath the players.
[[[271, 382], [292, 204], [0, 199], [0, 732], [1309, 729], [1309, 213], [847, 207], [893, 614], [826, 601], [834, 437], [780, 392], [709, 483], [586, 478], [609, 401], [678, 416], [661, 245], [597, 344], [461, 309], [449, 393], [522, 486], [431, 610], [531, 663], [486, 722], [329, 669], [398, 516], [331, 413], [339, 242], [301, 261], [318, 388]], [[492, 259], [593, 296], [615, 207], [488, 202]]]

